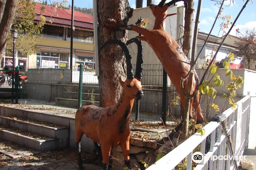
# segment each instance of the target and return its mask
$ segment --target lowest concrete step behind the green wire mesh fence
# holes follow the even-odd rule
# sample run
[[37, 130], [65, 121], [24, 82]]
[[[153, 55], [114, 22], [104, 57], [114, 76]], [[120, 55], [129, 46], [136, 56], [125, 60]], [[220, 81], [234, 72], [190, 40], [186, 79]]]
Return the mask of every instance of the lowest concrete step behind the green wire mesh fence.
[[[54, 99], [55, 99], [55, 105], [78, 108], [78, 99], [65, 99], [65, 98], [54, 98]], [[90, 102], [91, 102], [90, 100], [82, 100], [82, 106]], [[100, 102], [95, 101], [94, 105], [99, 107]]]

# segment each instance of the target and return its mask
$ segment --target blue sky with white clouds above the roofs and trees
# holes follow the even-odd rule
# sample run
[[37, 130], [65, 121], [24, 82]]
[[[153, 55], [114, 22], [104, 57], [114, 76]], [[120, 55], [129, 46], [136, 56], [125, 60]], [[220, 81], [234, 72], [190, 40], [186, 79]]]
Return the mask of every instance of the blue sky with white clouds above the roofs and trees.
[[[160, 2], [160, 0], [155, 0], [155, 4], [158, 4]], [[168, 2], [168, 0], [166, 1]], [[195, 5], [194, 5], [194, 9], [197, 9], [197, 5], [198, 5], [198, 0], [194, 0]], [[201, 9], [201, 15], [200, 15], [200, 24], [199, 24], [199, 29], [202, 32], [205, 33], [209, 33], [212, 24], [215, 20], [216, 14], [218, 12], [218, 7], [220, 5], [216, 5], [214, 6], [216, 2], [210, 1], [210, 0], [203, 0], [202, 2], [202, 9]], [[244, 5], [244, 1], [243, 0], [234, 0], [234, 5], [233, 3], [231, 3], [230, 6], [228, 7], [224, 7], [224, 11], [222, 13], [223, 15], [228, 15], [230, 14], [230, 16], [232, 16], [232, 22], [235, 20], [237, 14], [239, 13], [239, 11], [241, 10], [242, 6]], [[71, 4], [71, 0], [69, 0], [67, 6]], [[74, 4], [77, 7], [87, 7], [87, 8], [92, 8], [92, 0], [74, 0]], [[183, 4], [182, 2], [178, 2], [179, 4]], [[224, 5], [229, 5], [230, 4], [230, 0], [227, 0]], [[131, 8], [135, 8], [135, 0], [129, 0], [129, 5], [131, 6]], [[143, 0], [143, 7], [146, 7], [146, 0]], [[217, 20], [214, 29], [212, 31], [212, 35], [217, 36], [219, 29], [220, 29], [220, 24], [221, 24], [220, 19]], [[245, 9], [243, 10], [243, 12], [240, 15], [240, 18], [237, 20], [236, 22], [236, 26], [232, 29], [231, 31], [231, 35], [236, 35], [236, 29], [239, 28], [240, 31], [243, 31], [243, 29], [247, 27], [247, 28], [253, 28], [256, 27], [256, 2], [252, 3], [251, 1], [249, 3], [247, 3], [247, 6], [245, 7]], [[219, 34], [219, 36], [222, 36], [222, 32]]]

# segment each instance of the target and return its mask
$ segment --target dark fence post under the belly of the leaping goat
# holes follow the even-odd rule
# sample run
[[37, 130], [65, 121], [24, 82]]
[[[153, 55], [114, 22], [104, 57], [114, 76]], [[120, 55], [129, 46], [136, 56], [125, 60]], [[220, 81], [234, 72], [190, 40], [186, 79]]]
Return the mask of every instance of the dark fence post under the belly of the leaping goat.
[[163, 68], [162, 120], [166, 125], [167, 73]]

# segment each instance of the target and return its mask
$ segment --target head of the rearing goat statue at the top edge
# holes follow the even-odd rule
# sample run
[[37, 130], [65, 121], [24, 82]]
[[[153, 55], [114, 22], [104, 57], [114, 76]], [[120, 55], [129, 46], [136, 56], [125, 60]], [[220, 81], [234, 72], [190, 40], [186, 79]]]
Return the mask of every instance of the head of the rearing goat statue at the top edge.
[[154, 4], [150, 5], [150, 9], [155, 18], [160, 17], [162, 19], [165, 19], [168, 16], [176, 15], [176, 14], [166, 14], [168, 7], [170, 7], [171, 5], [175, 5], [176, 2], [184, 1], [186, 9], [188, 7], [186, 0], [172, 0], [172, 1], [164, 4], [165, 1], [166, 0], [162, 0], [158, 5], [154, 5]]

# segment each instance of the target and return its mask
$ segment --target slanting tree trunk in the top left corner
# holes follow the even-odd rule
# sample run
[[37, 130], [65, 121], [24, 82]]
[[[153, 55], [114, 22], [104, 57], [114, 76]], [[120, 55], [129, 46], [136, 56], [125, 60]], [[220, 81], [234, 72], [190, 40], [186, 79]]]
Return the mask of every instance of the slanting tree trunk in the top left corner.
[[18, 0], [7, 0], [0, 24], [0, 61], [5, 52], [5, 46], [8, 34], [10, 33], [11, 26], [15, 17]]

